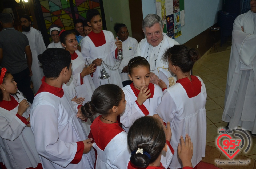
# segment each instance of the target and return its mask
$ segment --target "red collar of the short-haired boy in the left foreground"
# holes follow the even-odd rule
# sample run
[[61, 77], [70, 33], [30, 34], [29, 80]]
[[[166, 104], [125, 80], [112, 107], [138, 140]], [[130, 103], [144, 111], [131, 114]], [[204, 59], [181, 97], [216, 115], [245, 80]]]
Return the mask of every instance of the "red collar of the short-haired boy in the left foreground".
[[49, 84], [47, 84], [45, 82], [45, 76], [42, 78], [42, 84], [41, 84], [39, 90], [37, 91], [37, 94], [39, 94], [41, 92], [49, 92], [49, 93], [54, 94], [55, 96], [58, 96], [60, 98], [62, 98], [64, 95], [64, 90], [62, 89], [62, 85], [61, 85], [61, 88], [50, 86]]

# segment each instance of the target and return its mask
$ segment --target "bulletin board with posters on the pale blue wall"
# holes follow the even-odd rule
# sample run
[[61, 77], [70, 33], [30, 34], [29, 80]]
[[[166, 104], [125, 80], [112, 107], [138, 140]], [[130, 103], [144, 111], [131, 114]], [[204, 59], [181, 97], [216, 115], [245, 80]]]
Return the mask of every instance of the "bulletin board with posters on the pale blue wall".
[[164, 24], [163, 32], [173, 39], [181, 36], [185, 25], [184, 0], [156, 0], [155, 4]]

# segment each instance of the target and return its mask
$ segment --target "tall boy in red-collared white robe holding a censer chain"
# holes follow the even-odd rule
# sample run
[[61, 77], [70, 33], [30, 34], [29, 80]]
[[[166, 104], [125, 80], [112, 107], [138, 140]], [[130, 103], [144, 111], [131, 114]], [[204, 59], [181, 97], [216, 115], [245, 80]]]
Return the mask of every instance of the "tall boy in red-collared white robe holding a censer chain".
[[[103, 84], [116, 84], [123, 87], [122, 80], [118, 72], [118, 64], [120, 61], [116, 60], [118, 49], [122, 48], [122, 42], [114, 40], [114, 35], [110, 31], [102, 29], [102, 18], [97, 9], [90, 9], [87, 11], [88, 25], [91, 26], [92, 31], [85, 36], [81, 43], [81, 53], [83, 58], [91, 61], [97, 66], [96, 72], [93, 73], [94, 84], [96, 88]], [[104, 64], [105, 63], [105, 64]], [[107, 68], [107, 65], [109, 68]], [[99, 79], [101, 77], [101, 67], [104, 66], [109, 78]]]

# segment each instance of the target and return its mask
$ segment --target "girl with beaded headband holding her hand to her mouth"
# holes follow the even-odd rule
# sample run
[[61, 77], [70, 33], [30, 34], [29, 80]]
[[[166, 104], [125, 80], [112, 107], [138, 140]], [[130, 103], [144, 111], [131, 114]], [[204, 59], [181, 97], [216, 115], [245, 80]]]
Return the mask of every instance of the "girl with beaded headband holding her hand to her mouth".
[[144, 57], [132, 58], [128, 63], [128, 72], [133, 83], [122, 89], [127, 104], [120, 117], [126, 133], [136, 119], [155, 114], [163, 95], [158, 85], [150, 83], [149, 62]]

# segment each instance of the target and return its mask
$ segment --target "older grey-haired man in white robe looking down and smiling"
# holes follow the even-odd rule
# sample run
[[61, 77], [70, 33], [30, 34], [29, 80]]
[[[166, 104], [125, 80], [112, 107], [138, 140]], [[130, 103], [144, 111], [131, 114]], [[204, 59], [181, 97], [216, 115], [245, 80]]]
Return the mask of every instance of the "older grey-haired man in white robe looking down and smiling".
[[142, 56], [147, 59], [150, 64], [150, 82], [158, 85], [159, 68], [165, 69], [168, 77], [171, 77], [168, 64], [161, 59], [161, 56], [167, 48], [179, 43], [163, 33], [163, 22], [158, 15], [148, 14], [143, 19], [142, 30], [146, 38], [139, 42], [135, 56]]

